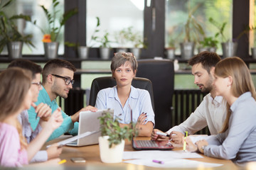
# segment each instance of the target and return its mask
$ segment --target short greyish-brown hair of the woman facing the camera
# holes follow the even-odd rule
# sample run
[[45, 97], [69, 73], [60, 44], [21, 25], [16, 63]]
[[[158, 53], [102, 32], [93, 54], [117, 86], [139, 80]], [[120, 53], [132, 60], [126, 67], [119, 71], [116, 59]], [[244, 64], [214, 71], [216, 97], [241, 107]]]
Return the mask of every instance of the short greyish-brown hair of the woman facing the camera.
[[138, 63], [136, 58], [131, 52], [116, 52], [114, 53], [114, 57], [112, 57], [110, 69], [112, 72], [116, 70], [118, 67], [122, 66], [125, 62], [130, 62], [132, 71], [135, 72], [138, 69]]

